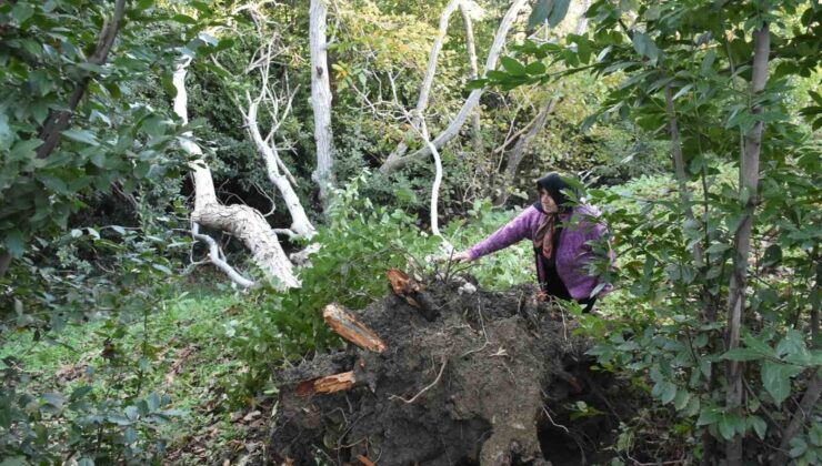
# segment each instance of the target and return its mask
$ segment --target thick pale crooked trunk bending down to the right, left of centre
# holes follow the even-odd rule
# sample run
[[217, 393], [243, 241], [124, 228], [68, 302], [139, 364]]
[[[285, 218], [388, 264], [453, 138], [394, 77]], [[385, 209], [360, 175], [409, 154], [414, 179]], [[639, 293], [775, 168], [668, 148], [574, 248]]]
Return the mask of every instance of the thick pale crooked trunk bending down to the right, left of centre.
[[[177, 89], [174, 113], [184, 123], [188, 123], [187, 67], [188, 62], [178, 64], [173, 79]], [[217, 199], [211, 170], [202, 160], [200, 146], [190, 139], [183, 140], [182, 146], [197, 158], [190, 164], [194, 178], [194, 211], [191, 213], [191, 221], [235, 236], [251, 251], [254, 263], [279, 280], [281, 287], [299, 287], [300, 282], [293, 274], [291, 262], [265, 217], [248, 205], [222, 205]]]

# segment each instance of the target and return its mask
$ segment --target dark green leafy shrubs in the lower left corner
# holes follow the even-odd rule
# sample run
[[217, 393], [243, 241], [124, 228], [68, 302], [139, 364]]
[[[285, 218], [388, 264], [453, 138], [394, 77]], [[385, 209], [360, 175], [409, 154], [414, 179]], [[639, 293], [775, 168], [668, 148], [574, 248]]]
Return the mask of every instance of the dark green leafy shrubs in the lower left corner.
[[[11, 278], [20, 280], [9, 288], [14, 314], [2, 322], [0, 334], [4, 344], [0, 452], [36, 463], [64, 460], [70, 452], [87, 460], [157, 463], [167, 442], [158, 436], [158, 427], [182, 414], [167, 407], [168, 397], [144, 391], [147, 371], [159, 353], [149, 341], [149, 315], [170, 294], [166, 280], [172, 274], [171, 263], [162, 250], [176, 246], [120, 226], [74, 230], [63, 241], [110, 254], [119, 281], [101, 280], [93, 270], [81, 267], [67, 274], [60, 263], [34, 264], [28, 257], [12, 270]], [[48, 287], [30, 281], [34, 274], [27, 266], [48, 277]], [[54, 388], [31, 383], [26, 354], [38, 344], [66, 345], [57, 332], [70, 322], [89, 321], [103, 321], [96, 332], [104, 343], [83, 374], [86, 382]], [[134, 321], [142, 322], [143, 340], [136, 351], [126, 352], [121, 346], [126, 325]], [[10, 331], [31, 334], [31, 346], [18, 352], [7, 347]]]

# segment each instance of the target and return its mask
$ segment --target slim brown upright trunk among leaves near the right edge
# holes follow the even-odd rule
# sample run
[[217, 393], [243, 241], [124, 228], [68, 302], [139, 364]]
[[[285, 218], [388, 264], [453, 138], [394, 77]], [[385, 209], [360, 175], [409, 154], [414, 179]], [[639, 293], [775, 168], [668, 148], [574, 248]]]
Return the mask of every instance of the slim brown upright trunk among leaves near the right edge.
[[[764, 23], [753, 33], [753, 74], [751, 77], [751, 94], [755, 98], [765, 88], [768, 82], [768, 54], [771, 50], [769, 24]], [[762, 113], [762, 107], [754, 104], [753, 114]], [[740, 197], [744, 206], [744, 215], [734, 235], [736, 245], [733, 259], [733, 274], [728, 296], [728, 350], [739, 347], [740, 328], [742, 326], [742, 311], [745, 305], [748, 287], [748, 256], [751, 250], [751, 230], [753, 226], [756, 189], [759, 185], [759, 158], [762, 146], [763, 122], [758, 121], [745, 134], [744, 150], [740, 163]], [[725, 365], [728, 393], [725, 408], [739, 412], [742, 405], [742, 363], [729, 361]], [[742, 464], [742, 437], [735, 435], [725, 444], [725, 460], [728, 466]]]

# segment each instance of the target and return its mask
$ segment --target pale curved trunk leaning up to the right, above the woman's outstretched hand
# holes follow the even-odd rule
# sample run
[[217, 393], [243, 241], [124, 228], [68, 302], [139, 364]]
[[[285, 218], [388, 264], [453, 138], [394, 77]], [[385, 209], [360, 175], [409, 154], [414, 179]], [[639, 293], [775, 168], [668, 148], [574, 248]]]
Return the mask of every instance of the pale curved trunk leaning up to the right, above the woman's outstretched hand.
[[[513, 24], [514, 20], [517, 19], [518, 13], [520, 10], [525, 6], [527, 0], [514, 0], [513, 3], [511, 3], [511, 7], [505, 12], [505, 16], [502, 18], [502, 21], [500, 22], [500, 27], [497, 29], [497, 34], [494, 36], [494, 41], [491, 44], [491, 49], [488, 52], [488, 59], [485, 60], [485, 71], [491, 71], [497, 67], [497, 59], [500, 55], [500, 52], [502, 51], [502, 47], [505, 43], [505, 37], [508, 36], [509, 29], [511, 29], [511, 24]], [[482, 97], [482, 89], [474, 89], [471, 91], [471, 94], [469, 94], [468, 99], [465, 100], [465, 103], [463, 103], [462, 109], [460, 109], [460, 112], [457, 114], [454, 120], [451, 122], [451, 124], [445, 128], [444, 131], [442, 131], [433, 141], [432, 145], [434, 148], [442, 149], [445, 143], [451, 141], [454, 136], [457, 136], [460, 133], [460, 128], [462, 128], [462, 124], [468, 119], [468, 115], [471, 113], [471, 111], [477, 107], [477, 104], [480, 102], [480, 98]], [[420, 160], [423, 158], [427, 158], [431, 155], [431, 144], [423, 145], [420, 150], [417, 152], [413, 152], [411, 154], [404, 155], [404, 156], [389, 156], [385, 159], [385, 162], [383, 162], [382, 166], [380, 168], [380, 171], [383, 174], [391, 174], [395, 172], [397, 170], [402, 169], [403, 166], [408, 165], [410, 162]]]

